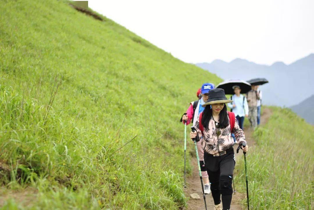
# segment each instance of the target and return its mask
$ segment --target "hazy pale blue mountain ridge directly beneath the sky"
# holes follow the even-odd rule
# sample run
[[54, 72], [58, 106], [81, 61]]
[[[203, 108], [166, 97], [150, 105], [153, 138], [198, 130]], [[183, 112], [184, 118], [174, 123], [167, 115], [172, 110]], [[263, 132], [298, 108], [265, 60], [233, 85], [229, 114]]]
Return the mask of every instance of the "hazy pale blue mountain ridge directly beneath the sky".
[[241, 58], [231, 62], [217, 59], [195, 65], [223, 79], [267, 78], [269, 83], [260, 87], [266, 105], [290, 107], [314, 94], [314, 53], [289, 65], [280, 61], [261, 65]]

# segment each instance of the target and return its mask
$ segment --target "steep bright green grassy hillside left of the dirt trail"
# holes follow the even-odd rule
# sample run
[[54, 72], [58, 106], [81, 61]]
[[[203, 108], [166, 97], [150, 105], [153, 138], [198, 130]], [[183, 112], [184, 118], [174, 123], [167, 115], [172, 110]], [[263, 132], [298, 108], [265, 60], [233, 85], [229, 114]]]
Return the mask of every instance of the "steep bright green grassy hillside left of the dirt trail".
[[184, 206], [179, 118], [221, 80], [65, 1], [0, 14], [2, 208]]

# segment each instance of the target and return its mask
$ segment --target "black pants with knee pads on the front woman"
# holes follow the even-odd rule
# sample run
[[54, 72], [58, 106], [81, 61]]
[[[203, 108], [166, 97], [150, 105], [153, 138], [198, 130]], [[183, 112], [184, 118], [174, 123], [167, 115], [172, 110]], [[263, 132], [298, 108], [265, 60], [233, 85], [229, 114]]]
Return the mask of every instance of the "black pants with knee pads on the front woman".
[[204, 162], [215, 205], [220, 203], [221, 195], [223, 209], [230, 209], [233, 193], [232, 177], [236, 163], [233, 147], [227, 149], [226, 154], [217, 157], [205, 152]]

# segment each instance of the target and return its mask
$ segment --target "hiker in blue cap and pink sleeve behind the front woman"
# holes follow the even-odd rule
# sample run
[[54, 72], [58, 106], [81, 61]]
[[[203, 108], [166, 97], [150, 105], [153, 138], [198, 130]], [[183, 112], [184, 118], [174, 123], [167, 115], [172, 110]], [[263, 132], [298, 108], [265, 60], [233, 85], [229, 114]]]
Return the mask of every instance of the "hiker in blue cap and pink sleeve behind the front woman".
[[[190, 103], [189, 108], [182, 115], [180, 121], [182, 121], [183, 123], [186, 123], [187, 125], [192, 122], [193, 126], [194, 126], [196, 120], [198, 119], [198, 115], [205, 109], [205, 107], [203, 107], [203, 105], [208, 100], [209, 90], [214, 89], [214, 88], [215, 87], [212, 83], [204, 83], [202, 85], [202, 88], [201, 88], [202, 98], [200, 100], [192, 101]], [[204, 164], [204, 149], [202, 148], [200, 142], [197, 143], [197, 148], [198, 148], [198, 157], [200, 160], [199, 162], [200, 162], [200, 166], [201, 166], [203, 183], [204, 183], [204, 193], [210, 194], [210, 185], [209, 185], [209, 180], [208, 180], [208, 174], [207, 174], [207, 171], [205, 169], [205, 164]]]

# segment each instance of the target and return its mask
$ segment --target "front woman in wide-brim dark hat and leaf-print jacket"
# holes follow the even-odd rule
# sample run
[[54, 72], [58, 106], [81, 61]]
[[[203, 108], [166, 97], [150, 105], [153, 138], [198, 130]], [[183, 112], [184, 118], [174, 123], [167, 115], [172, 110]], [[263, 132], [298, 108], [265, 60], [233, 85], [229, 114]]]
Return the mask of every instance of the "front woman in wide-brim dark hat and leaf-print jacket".
[[[234, 140], [231, 133], [235, 134], [239, 145], [246, 142], [244, 132], [235, 120], [234, 113], [227, 111], [225, 104], [230, 102], [232, 100], [226, 98], [223, 89], [210, 90], [208, 100], [203, 105], [205, 109], [198, 116], [195, 123], [196, 132], [190, 133], [192, 139], [197, 137], [202, 141], [205, 168], [209, 176], [210, 190], [217, 210], [222, 209], [220, 195], [223, 209], [230, 209], [232, 199], [232, 177], [235, 159]], [[246, 145], [244, 148], [242, 146], [242, 149], [246, 152], [248, 146]]]

